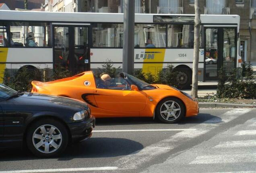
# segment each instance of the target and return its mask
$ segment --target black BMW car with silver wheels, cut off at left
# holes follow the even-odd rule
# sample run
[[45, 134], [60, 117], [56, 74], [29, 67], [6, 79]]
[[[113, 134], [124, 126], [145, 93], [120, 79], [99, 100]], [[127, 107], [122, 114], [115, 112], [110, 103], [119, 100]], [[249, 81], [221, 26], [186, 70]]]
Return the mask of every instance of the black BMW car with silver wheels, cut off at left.
[[27, 145], [39, 157], [62, 153], [68, 143], [91, 137], [89, 107], [65, 97], [21, 93], [0, 84], [0, 148]]

